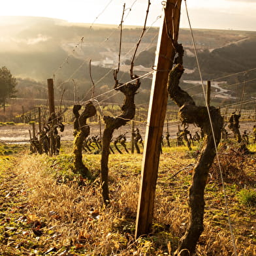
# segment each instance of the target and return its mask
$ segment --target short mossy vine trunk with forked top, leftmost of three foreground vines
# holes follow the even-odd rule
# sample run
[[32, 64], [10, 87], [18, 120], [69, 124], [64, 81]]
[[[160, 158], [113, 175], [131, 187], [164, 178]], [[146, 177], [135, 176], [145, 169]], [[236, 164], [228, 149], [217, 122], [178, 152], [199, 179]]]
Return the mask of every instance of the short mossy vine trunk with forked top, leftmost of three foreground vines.
[[82, 160], [83, 144], [86, 137], [89, 135], [89, 125], [86, 124], [87, 118], [96, 114], [96, 108], [93, 103], [87, 103], [82, 114], [79, 114], [81, 105], [74, 105], [73, 113], [74, 120], [74, 172], [80, 173], [84, 178], [89, 176], [89, 170], [84, 165]]

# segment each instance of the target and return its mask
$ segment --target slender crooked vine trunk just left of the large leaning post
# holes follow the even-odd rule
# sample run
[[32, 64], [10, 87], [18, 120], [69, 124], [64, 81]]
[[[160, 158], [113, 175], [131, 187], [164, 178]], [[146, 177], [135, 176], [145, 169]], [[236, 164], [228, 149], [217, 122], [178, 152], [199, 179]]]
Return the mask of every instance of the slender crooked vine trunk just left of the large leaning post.
[[123, 113], [112, 118], [110, 116], [104, 116], [105, 123], [103, 131], [103, 145], [101, 152], [101, 186], [103, 193], [104, 204], [110, 202], [109, 189], [108, 189], [108, 157], [110, 154], [110, 141], [115, 129], [125, 125], [127, 121], [132, 120], [135, 116], [135, 94], [140, 87], [140, 80], [136, 80], [135, 84], [125, 84], [124, 86], [116, 84], [115, 89], [120, 90], [125, 95], [125, 101], [121, 110]]

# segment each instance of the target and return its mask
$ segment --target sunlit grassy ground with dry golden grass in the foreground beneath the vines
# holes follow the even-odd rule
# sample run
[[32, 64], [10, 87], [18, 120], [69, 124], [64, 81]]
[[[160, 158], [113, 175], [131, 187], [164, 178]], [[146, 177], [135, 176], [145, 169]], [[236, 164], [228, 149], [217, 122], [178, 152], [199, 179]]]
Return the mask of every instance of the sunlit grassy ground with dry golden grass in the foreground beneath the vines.
[[[70, 150], [71, 146], [66, 145], [61, 155], [52, 159], [29, 155], [27, 149], [22, 154], [1, 157], [0, 255], [172, 255], [187, 226], [191, 168], [172, 175], [194, 164], [193, 154], [184, 147], [164, 148], [153, 232], [134, 240], [142, 155], [110, 155], [112, 203], [104, 208], [97, 178], [100, 155], [84, 156], [96, 176], [94, 182], [89, 182], [72, 174]], [[229, 172], [227, 196], [238, 253], [251, 256], [255, 254], [255, 208], [242, 205], [238, 191], [255, 184], [255, 158], [236, 158], [244, 174], [238, 180], [233, 169], [225, 170], [225, 174]], [[234, 158], [232, 163], [227, 159], [230, 155], [222, 158], [223, 167], [225, 163], [232, 168], [238, 166]], [[223, 191], [215, 167], [205, 198], [205, 231], [197, 253], [232, 255]]]

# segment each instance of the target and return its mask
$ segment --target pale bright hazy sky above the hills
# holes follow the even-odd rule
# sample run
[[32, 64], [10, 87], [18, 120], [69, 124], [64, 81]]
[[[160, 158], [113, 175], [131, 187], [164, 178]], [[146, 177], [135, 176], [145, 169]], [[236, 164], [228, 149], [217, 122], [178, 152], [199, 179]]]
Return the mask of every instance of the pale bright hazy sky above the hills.
[[[151, 0], [147, 25], [161, 15], [162, 0]], [[180, 27], [187, 27], [182, 1]], [[6, 0], [0, 16], [42, 16], [69, 22], [120, 24], [123, 3], [124, 25], [144, 25], [148, 0]], [[191, 24], [195, 28], [256, 31], [256, 0], [187, 0]], [[131, 8], [131, 11], [129, 11]], [[154, 25], [159, 25], [155, 23]]]

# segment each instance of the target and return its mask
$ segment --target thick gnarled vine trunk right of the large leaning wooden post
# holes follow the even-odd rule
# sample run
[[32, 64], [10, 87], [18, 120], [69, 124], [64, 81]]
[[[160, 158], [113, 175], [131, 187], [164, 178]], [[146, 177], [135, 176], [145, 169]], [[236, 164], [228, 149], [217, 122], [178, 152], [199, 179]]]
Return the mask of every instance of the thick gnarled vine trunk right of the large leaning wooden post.
[[[178, 114], [182, 122], [195, 123], [205, 134], [204, 146], [202, 147], [197, 165], [193, 170], [192, 184], [189, 188], [189, 225], [175, 253], [175, 255], [189, 256], [195, 252], [200, 234], [204, 230], [204, 188], [209, 169], [216, 156], [215, 142], [216, 146], [218, 146], [221, 138], [223, 118], [217, 108], [210, 106], [211, 127], [206, 106], [196, 106], [192, 97], [178, 86], [183, 72], [184, 69], [180, 64], [176, 65], [170, 71], [168, 77], [168, 93], [170, 98], [180, 107]], [[214, 136], [212, 134], [212, 128]]]

